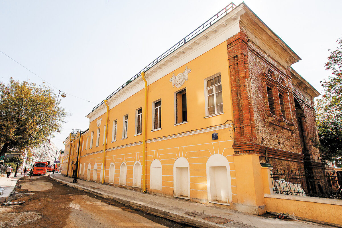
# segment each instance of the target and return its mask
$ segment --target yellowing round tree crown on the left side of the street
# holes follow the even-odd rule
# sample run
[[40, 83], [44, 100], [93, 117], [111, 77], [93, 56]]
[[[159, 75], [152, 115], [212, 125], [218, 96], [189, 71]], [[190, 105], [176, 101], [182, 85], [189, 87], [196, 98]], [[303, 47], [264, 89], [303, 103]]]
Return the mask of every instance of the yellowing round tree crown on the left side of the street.
[[40, 145], [62, 126], [68, 115], [53, 90], [43, 83], [0, 83], [0, 157], [8, 149], [24, 151]]

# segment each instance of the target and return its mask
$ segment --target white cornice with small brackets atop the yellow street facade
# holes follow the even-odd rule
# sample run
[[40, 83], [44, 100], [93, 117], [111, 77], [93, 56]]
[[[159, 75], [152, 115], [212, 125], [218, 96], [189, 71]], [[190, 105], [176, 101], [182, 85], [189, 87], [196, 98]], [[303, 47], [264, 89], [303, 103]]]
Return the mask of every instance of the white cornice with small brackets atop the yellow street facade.
[[[243, 13], [245, 13], [245, 11], [242, 9], [242, 5], [237, 6], [233, 11], [215, 22], [208, 29], [179, 47], [169, 56], [163, 58], [160, 62], [145, 72], [147, 84], [150, 85], [156, 82], [238, 33], [240, 31], [240, 15]], [[109, 105], [109, 109], [114, 108], [116, 105], [134, 95], [136, 92], [142, 90], [144, 87], [141, 77], [134, 79], [128, 86], [125, 86], [108, 99], [107, 104]], [[106, 105], [102, 104], [86, 117], [89, 118], [89, 122], [92, 122], [99, 116], [105, 114], [106, 111]]]

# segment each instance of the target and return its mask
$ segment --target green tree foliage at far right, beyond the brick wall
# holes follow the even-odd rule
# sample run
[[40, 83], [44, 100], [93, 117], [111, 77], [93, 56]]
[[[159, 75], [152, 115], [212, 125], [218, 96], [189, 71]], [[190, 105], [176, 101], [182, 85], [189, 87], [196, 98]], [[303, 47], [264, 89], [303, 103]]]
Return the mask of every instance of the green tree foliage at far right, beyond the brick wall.
[[316, 103], [319, 142], [313, 140], [324, 160], [341, 164], [342, 157], [342, 38], [339, 46], [330, 51], [326, 70], [332, 74], [323, 82], [324, 95]]

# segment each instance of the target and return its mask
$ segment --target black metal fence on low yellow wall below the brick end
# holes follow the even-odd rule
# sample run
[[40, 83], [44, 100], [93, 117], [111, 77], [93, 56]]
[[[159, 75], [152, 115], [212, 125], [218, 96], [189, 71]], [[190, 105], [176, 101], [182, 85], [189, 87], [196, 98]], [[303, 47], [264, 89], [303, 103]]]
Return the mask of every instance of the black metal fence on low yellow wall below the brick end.
[[334, 171], [294, 172], [272, 170], [273, 192], [294, 196], [342, 199], [341, 186]]

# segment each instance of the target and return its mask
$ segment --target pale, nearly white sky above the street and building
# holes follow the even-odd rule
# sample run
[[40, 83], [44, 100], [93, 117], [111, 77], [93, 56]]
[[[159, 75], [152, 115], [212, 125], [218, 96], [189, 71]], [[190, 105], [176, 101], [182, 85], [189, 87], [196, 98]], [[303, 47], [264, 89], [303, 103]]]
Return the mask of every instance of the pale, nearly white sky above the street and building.
[[[0, 52], [0, 80], [44, 79], [67, 94], [60, 98], [70, 116], [52, 139], [64, 149], [74, 128], [89, 128], [96, 104], [229, 3], [0, 0], [0, 51], [29, 69]], [[321, 92], [328, 49], [342, 37], [342, 1], [245, 3], [302, 58], [292, 68]]]

